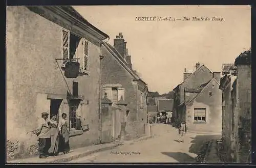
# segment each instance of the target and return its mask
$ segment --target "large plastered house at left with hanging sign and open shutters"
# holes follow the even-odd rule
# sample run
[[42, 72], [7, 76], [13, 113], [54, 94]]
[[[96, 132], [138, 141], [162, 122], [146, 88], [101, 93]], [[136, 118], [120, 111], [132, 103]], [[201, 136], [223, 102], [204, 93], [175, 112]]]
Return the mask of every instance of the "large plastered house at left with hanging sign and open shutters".
[[[43, 111], [68, 115], [71, 148], [99, 143], [100, 45], [109, 36], [70, 6], [6, 13], [7, 158], [37, 152], [31, 131]], [[68, 60], [56, 59], [79, 59], [79, 76], [67, 78]]]

